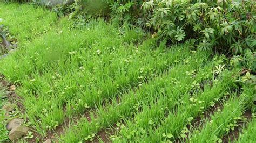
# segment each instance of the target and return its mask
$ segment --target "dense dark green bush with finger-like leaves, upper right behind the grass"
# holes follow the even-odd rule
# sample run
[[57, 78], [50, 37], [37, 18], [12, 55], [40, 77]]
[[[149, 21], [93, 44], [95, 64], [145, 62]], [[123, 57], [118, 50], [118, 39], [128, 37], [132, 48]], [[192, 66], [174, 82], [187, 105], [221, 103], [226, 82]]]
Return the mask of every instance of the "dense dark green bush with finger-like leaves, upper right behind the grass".
[[218, 48], [234, 54], [255, 49], [254, 1], [208, 4], [154, 0], [144, 2], [142, 8], [149, 16], [147, 26], [173, 43], [192, 39], [198, 49]]

